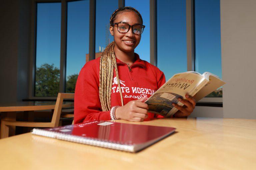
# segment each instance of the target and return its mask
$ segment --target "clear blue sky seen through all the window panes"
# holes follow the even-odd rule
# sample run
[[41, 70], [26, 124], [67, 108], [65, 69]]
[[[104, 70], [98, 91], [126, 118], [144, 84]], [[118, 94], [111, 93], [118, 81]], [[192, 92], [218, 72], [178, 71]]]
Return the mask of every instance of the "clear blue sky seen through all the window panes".
[[[108, 32], [109, 19], [118, 0], [96, 1], [95, 50], [113, 41]], [[186, 0], [157, 1], [157, 66], [170, 78], [187, 71]], [[126, 0], [136, 8], [146, 26], [135, 49], [141, 59], [150, 59], [149, 0]], [[89, 53], [89, 0], [68, 2], [67, 76], [79, 73]], [[36, 66], [43, 63], [60, 67], [61, 3], [39, 3], [37, 8]], [[107, 35], [106, 35], [107, 34]], [[108, 40], [109, 39], [109, 40]], [[219, 0], [195, 0], [196, 71], [221, 77]]]

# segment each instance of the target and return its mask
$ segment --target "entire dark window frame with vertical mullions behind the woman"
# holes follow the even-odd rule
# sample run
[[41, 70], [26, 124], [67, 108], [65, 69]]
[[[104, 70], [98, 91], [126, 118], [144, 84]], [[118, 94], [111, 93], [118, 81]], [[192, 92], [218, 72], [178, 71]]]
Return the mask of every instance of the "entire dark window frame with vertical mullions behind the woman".
[[[67, 2], [79, 0], [32, 0], [31, 1], [31, 36], [30, 36], [30, 73], [29, 99], [52, 100], [56, 97], [35, 97], [35, 61], [36, 61], [36, 30], [37, 30], [37, 3], [61, 3], [61, 47], [60, 47], [60, 86], [59, 92], [65, 92], [66, 81], [66, 47], [67, 47]], [[118, 0], [118, 7], [124, 6], [125, 0]], [[157, 22], [156, 0], [150, 1], [150, 63], [157, 65]], [[186, 34], [187, 34], [187, 71], [195, 71], [195, 20], [194, 0], [186, 0]], [[90, 0], [89, 16], [89, 60], [95, 58], [95, 11], [96, 0]], [[203, 103], [222, 103], [222, 97], [205, 97], [199, 101]]]

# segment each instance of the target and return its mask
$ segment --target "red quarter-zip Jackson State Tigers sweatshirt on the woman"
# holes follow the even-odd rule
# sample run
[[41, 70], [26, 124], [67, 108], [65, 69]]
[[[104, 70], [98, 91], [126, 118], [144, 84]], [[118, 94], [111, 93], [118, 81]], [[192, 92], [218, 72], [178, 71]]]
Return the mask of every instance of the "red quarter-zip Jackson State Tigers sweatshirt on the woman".
[[[124, 105], [143, 96], [150, 97], [165, 83], [165, 76], [156, 66], [141, 60], [135, 54], [136, 61], [128, 67], [116, 58]], [[103, 112], [99, 98], [100, 57], [87, 62], [81, 69], [75, 89], [74, 123], [87, 120], [111, 120], [110, 111]], [[115, 70], [111, 91], [111, 107], [122, 106]], [[148, 113], [148, 118], [162, 117]]]

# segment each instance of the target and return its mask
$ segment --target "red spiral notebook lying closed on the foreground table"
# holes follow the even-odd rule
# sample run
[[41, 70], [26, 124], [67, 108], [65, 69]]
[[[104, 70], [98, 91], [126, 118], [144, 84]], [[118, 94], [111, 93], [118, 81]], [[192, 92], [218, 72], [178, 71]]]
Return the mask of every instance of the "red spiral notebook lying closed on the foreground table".
[[34, 128], [32, 134], [128, 152], [137, 152], [163, 139], [175, 128], [87, 121], [58, 128]]

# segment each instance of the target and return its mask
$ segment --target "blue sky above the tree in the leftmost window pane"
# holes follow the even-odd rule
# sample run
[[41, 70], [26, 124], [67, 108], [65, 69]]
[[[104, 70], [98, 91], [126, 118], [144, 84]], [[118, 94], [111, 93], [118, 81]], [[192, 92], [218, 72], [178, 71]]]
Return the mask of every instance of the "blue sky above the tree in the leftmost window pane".
[[60, 67], [60, 3], [37, 6], [36, 66], [49, 63]]

